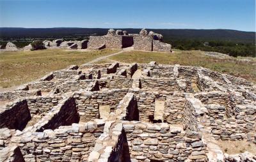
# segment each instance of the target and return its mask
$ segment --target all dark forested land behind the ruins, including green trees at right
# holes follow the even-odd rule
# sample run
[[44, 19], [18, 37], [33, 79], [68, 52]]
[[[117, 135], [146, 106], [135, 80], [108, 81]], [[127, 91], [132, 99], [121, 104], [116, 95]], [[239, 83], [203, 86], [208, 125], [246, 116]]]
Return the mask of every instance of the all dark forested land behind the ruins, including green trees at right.
[[[122, 29], [128, 33], [140, 33], [141, 29]], [[227, 29], [147, 29], [163, 34], [164, 42], [180, 50], [215, 51], [232, 56], [256, 55], [255, 32]], [[100, 28], [0, 28], [0, 45], [5, 47], [8, 41], [15, 41], [18, 47], [24, 47], [33, 40], [84, 40], [90, 35], [104, 35], [108, 29]]]

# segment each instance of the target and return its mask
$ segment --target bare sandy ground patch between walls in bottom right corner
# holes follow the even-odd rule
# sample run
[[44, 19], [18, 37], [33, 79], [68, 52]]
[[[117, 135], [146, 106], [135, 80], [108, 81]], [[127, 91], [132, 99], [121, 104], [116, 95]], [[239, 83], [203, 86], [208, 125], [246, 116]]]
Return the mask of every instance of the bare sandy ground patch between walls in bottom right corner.
[[253, 142], [242, 141], [224, 141], [218, 140], [218, 145], [224, 153], [239, 154], [245, 151], [256, 154], [256, 145]]

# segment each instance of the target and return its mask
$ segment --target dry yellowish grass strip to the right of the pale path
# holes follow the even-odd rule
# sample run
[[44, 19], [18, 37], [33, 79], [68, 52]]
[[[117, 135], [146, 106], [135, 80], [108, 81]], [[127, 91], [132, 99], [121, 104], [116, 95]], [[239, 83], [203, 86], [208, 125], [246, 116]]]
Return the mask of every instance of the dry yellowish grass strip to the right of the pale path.
[[242, 57], [218, 59], [201, 54], [200, 51], [182, 51], [175, 50], [174, 53], [160, 52], [124, 52], [119, 55], [109, 57], [116, 61], [124, 63], [149, 63], [156, 61], [159, 64], [180, 64], [185, 66], [202, 66], [221, 73], [227, 73], [235, 77], [245, 78], [256, 83], [256, 60], [255, 58], [246, 58], [249, 61], [241, 61]]

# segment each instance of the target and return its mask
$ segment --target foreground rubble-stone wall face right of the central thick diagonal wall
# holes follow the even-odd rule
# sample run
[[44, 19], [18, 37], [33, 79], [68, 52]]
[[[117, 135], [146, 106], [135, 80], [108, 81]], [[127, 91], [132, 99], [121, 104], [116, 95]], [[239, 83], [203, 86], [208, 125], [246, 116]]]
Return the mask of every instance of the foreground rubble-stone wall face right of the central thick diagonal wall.
[[123, 122], [129, 144], [131, 160], [134, 161], [207, 161], [205, 146], [194, 136], [187, 137], [182, 128], [166, 123]]

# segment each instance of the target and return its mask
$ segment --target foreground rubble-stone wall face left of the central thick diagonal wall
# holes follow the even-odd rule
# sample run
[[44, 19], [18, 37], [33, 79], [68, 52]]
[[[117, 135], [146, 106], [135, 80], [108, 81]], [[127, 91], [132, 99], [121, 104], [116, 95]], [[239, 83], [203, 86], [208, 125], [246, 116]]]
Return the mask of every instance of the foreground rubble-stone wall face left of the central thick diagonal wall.
[[18, 145], [26, 161], [88, 161], [102, 131], [102, 124], [97, 125], [97, 122], [72, 124], [54, 130], [45, 129]]

